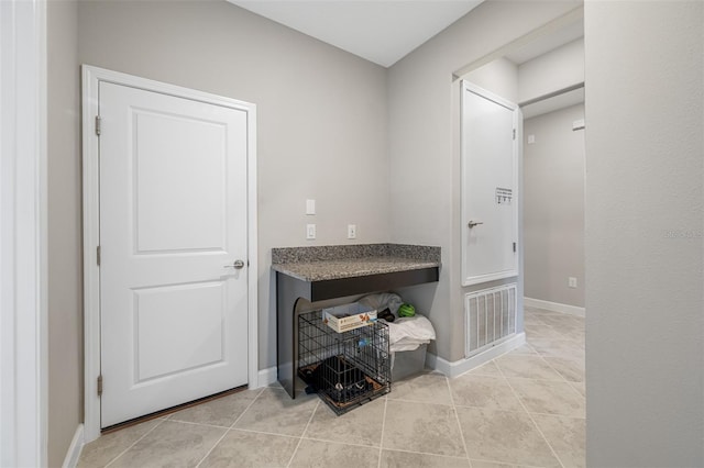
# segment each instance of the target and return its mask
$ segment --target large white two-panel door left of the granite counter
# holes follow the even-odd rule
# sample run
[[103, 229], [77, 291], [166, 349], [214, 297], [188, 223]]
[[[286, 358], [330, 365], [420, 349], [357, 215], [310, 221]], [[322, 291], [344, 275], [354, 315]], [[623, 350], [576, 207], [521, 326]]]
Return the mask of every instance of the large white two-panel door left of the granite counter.
[[248, 383], [248, 126], [243, 110], [99, 92], [107, 427]]

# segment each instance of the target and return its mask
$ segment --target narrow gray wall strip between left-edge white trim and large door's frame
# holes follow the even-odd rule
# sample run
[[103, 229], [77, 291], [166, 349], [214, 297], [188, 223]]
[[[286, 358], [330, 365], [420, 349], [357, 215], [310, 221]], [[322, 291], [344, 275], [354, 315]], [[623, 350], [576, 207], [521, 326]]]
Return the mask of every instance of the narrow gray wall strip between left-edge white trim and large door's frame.
[[48, 466], [82, 422], [82, 244], [77, 3], [47, 5]]

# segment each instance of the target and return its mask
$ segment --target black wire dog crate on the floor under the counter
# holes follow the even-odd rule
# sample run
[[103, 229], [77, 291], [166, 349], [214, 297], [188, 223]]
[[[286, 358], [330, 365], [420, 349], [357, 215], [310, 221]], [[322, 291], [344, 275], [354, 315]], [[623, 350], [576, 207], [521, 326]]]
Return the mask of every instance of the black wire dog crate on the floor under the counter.
[[337, 333], [321, 311], [298, 315], [298, 376], [338, 415], [391, 391], [388, 326]]

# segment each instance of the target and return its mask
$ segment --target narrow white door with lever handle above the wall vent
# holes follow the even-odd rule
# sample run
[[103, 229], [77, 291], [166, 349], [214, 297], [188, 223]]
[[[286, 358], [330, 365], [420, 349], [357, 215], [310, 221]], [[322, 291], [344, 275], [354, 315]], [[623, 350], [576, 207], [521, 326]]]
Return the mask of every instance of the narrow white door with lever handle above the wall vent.
[[516, 104], [464, 81], [462, 283], [518, 275]]

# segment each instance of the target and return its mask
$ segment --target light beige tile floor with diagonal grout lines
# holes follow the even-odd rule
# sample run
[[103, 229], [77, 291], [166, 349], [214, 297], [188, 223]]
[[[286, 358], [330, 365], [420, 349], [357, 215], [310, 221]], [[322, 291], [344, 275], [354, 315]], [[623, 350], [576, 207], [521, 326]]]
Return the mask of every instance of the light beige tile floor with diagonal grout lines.
[[246, 390], [101, 436], [79, 467], [583, 467], [584, 319], [526, 308], [527, 344], [336, 416]]

